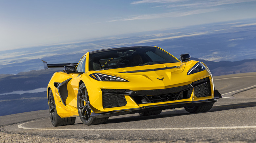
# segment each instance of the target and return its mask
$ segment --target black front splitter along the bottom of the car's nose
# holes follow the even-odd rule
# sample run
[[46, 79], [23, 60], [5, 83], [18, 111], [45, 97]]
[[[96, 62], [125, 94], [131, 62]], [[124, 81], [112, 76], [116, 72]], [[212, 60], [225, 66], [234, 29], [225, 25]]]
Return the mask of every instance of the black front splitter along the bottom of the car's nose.
[[186, 102], [176, 102], [176, 103], [165, 103], [165, 104], [158, 104], [158, 105], [151, 105], [151, 106], [143, 106], [143, 107], [133, 108], [133, 109], [116, 110], [116, 111], [103, 112], [103, 113], [92, 113], [91, 116], [94, 118], [106, 118], [106, 117], [140, 113], [140, 112], [146, 112], [146, 111], [166, 110], [166, 109], [173, 109], [173, 108], [182, 108], [186, 106], [200, 106], [200, 105], [213, 104], [217, 101], [216, 99], [219, 99], [219, 98], [222, 98], [220, 92], [218, 90], [214, 90], [214, 99], [192, 101], [192, 102], [186, 101]]

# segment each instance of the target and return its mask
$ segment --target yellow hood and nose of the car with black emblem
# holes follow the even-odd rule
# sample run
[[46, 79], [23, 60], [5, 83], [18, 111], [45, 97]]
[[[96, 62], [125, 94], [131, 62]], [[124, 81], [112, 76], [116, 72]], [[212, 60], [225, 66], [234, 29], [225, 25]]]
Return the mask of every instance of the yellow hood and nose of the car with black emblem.
[[[157, 65], [145, 65], [137, 67], [118, 68], [101, 71], [89, 71], [92, 73], [102, 73], [117, 76], [129, 82], [97, 82], [100, 87], [130, 89], [130, 90], [152, 90], [164, 89], [189, 85], [191, 82], [209, 76], [207, 70], [187, 76], [187, 71], [198, 61], [188, 61], [185, 63], [166, 63]], [[94, 81], [94, 80], [93, 80]]]

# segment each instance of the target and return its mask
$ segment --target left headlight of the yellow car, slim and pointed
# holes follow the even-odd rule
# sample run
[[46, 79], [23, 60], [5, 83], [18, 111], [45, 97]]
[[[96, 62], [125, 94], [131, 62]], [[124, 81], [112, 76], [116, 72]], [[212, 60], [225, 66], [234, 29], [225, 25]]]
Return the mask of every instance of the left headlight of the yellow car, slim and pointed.
[[128, 80], [122, 79], [120, 77], [101, 74], [101, 73], [93, 73], [93, 74], [90, 74], [89, 76], [98, 81], [128, 81]]

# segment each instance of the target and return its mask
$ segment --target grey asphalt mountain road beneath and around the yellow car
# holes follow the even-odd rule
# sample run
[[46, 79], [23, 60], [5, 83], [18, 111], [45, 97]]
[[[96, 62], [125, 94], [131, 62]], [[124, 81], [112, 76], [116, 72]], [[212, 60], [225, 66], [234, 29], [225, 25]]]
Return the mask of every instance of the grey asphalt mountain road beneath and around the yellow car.
[[179, 108], [148, 117], [111, 117], [93, 126], [76, 118], [75, 125], [53, 127], [48, 110], [41, 110], [0, 116], [0, 137], [15, 135], [19, 142], [256, 142], [256, 72], [215, 76], [214, 84], [223, 98], [205, 113]]

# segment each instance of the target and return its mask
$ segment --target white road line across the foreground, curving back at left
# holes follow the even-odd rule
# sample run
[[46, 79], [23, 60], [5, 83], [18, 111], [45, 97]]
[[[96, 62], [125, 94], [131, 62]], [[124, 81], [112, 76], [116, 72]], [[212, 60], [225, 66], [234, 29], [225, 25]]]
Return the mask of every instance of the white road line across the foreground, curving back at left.
[[224, 127], [190, 127], [190, 128], [142, 128], [142, 129], [56, 129], [56, 128], [28, 128], [23, 127], [24, 124], [34, 121], [19, 124], [21, 129], [31, 130], [60, 130], [60, 131], [157, 131], [157, 130], [207, 130], [207, 129], [253, 129], [256, 126], [224, 126]]

